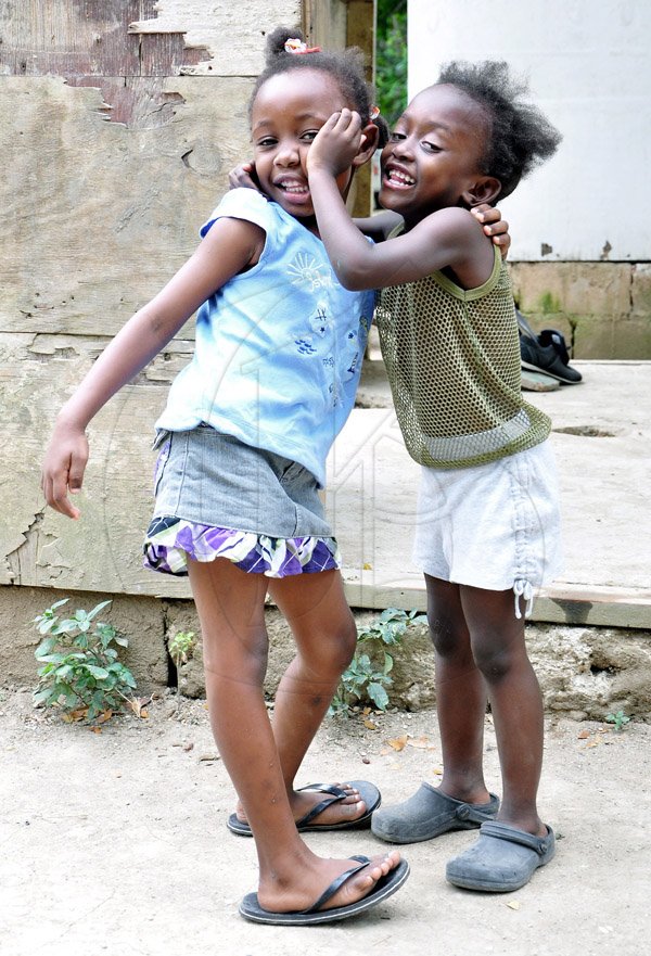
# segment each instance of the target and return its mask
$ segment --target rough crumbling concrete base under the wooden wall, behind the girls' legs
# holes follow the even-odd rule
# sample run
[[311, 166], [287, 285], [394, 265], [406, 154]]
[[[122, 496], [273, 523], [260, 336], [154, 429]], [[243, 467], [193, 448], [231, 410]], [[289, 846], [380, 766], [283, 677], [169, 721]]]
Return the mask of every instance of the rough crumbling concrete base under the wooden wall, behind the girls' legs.
[[[34, 617], [55, 600], [69, 597], [71, 610], [90, 610], [105, 596], [92, 592], [59, 592], [51, 588], [0, 588], [0, 684], [29, 687], [37, 683], [34, 651], [39, 635]], [[129, 638], [122, 660], [138, 680], [138, 692], [178, 684], [188, 697], [203, 697], [201, 642], [192, 660], [177, 674], [167, 642], [179, 630], [200, 633], [192, 601], [115, 596], [103, 620]], [[355, 612], [358, 624], [375, 616]], [[281, 614], [267, 611], [270, 654], [265, 690], [272, 694], [293, 657], [290, 632]], [[577, 719], [603, 719], [623, 710], [638, 719], [651, 719], [651, 633], [610, 627], [531, 624], [529, 657], [538, 675], [547, 713], [564, 713]], [[414, 625], [394, 652], [391, 703], [408, 711], [436, 702], [434, 657], [426, 627]]]

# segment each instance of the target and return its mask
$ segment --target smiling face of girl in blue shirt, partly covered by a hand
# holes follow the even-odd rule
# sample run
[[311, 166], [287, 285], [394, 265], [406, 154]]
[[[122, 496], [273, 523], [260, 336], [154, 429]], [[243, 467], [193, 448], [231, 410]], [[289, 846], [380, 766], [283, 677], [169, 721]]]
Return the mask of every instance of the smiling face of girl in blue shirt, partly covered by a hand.
[[[292, 216], [314, 219], [307, 151], [330, 116], [348, 105], [322, 69], [290, 69], [259, 88], [251, 112], [255, 170], [263, 192]], [[337, 177], [344, 196], [350, 179], [352, 170]], [[304, 225], [317, 232], [316, 220]]]

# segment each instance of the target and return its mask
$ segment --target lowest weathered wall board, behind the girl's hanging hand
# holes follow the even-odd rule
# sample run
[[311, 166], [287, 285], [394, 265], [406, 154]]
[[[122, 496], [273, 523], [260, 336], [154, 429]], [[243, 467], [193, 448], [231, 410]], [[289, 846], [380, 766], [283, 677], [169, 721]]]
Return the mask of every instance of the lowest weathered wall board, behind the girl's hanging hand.
[[40, 464], [56, 411], [107, 340], [43, 337], [0, 334], [0, 584], [188, 597], [184, 582], [141, 568], [141, 549], [153, 504], [153, 425], [192, 343], [170, 343], [93, 420], [82, 518], [73, 522], [44, 507]]

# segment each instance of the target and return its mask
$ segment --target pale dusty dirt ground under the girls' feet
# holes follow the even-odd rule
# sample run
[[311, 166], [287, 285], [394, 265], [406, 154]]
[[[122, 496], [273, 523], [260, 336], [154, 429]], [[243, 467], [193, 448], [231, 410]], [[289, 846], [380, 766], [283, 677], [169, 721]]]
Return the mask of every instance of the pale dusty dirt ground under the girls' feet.
[[[370, 779], [384, 803], [435, 782], [433, 712], [329, 719], [301, 782]], [[245, 922], [253, 842], [225, 826], [233, 792], [202, 701], [154, 700], [92, 732], [0, 694], [3, 814], [0, 952], [8, 956], [639, 956], [651, 931], [651, 725], [622, 732], [548, 723], [540, 810], [557, 858], [508, 895], [446, 883], [472, 832], [404, 847], [405, 887], [365, 916], [320, 928]], [[388, 742], [393, 741], [393, 745]], [[404, 745], [404, 749], [396, 748]], [[487, 718], [487, 781], [499, 789]], [[308, 834], [323, 855], [376, 851], [369, 831]]]

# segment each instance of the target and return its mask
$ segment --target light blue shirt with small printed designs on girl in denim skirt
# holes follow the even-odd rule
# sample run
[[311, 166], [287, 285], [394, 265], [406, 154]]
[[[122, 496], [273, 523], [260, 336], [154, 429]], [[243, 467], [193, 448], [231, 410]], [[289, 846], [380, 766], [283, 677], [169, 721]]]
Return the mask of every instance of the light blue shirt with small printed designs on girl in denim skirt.
[[228, 192], [202, 237], [222, 217], [259, 226], [265, 246], [197, 311], [194, 356], [156, 429], [206, 422], [297, 461], [322, 486], [354, 406], [374, 294], [343, 289], [321, 240], [260, 193]]

